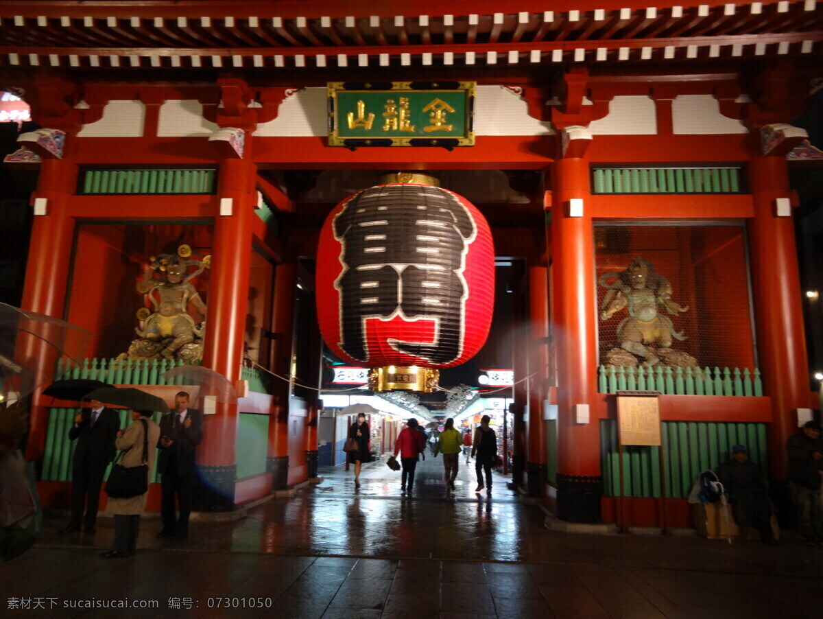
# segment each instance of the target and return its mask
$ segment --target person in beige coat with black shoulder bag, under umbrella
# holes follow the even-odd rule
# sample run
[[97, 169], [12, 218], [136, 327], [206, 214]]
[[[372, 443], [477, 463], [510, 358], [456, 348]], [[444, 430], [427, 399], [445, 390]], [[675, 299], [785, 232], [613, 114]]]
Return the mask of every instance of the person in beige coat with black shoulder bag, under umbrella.
[[[117, 449], [123, 450], [118, 463], [126, 468], [140, 467], [146, 460], [143, 459], [146, 451], [148, 479], [151, 479], [151, 470], [155, 463], [155, 449], [160, 438], [160, 426], [151, 421], [151, 411], [132, 411], [132, 425], [125, 431], [118, 431], [114, 444]], [[146, 480], [147, 482], [148, 480]], [[122, 559], [133, 555], [137, 550], [137, 533], [140, 531], [140, 516], [146, 511], [148, 491], [142, 495], [115, 499], [109, 497], [108, 510], [114, 514], [114, 542], [108, 552], [100, 554], [105, 559]]]

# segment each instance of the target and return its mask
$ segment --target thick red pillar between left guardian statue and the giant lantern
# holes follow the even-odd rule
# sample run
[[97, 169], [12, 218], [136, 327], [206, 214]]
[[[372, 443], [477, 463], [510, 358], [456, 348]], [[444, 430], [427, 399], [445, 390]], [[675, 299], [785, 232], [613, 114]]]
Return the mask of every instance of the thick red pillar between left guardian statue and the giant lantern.
[[[250, 150], [250, 137], [246, 137]], [[220, 163], [216, 199], [222, 208], [229, 199], [231, 214], [216, 215], [212, 241], [212, 276], [207, 297], [203, 365], [236, 384], [243, 362], [244, 329], [249, 298], [252, 217], [256, 166], [244, 159]], [[195, 509], [230, 510], [234, 506], [238, 412], [236, 405], [218, 404], [207, 416], [198, 448], [202, 486]]]

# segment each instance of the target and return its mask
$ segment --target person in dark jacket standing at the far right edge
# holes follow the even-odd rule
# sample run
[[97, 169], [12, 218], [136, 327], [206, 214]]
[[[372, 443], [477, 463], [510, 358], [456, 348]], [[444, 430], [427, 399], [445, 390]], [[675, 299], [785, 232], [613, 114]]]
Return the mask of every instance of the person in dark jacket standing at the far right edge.
[[823, 544], [823, 444], [818, 421], [807, 421], [802, 434], [786, 440], [788, 487], [807, 544]]

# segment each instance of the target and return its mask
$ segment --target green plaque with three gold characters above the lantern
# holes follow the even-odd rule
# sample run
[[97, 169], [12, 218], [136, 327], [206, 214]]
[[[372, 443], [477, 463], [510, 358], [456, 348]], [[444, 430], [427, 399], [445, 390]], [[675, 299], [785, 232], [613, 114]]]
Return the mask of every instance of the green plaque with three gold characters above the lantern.
[[328, 82], [328, 146], [474, 146], [475, 89], [474, 81]]

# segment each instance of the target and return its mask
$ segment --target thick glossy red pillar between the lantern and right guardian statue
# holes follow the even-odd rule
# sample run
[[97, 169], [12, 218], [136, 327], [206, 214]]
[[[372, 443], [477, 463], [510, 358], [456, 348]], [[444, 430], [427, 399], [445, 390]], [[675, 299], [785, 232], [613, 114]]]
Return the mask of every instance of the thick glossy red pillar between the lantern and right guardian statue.
[[[557, 516], [600, 518], [600, 432], [588, 407], [597, 398], [597, 300], [588, 161], [556, 161], [551, 208], [552, 302], [557, 356]], [[570, 216], [570, 200], [582, 214]]]

